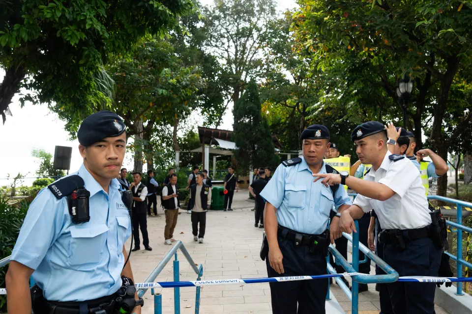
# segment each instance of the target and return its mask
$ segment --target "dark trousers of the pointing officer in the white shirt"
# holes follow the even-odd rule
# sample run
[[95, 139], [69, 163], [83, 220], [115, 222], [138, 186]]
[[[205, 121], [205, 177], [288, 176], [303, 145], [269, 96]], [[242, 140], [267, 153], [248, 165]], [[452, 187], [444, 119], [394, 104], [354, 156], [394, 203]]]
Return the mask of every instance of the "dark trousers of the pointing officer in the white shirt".
[[[406, 248], [392, 244], [383, 248], [383, 260], [400, 276], [438, 276], [442, 251], [429, 237], [410, 241], [405, 236]], [[386, 284], [395, 314], [434, 314], [436, 283], [394, 282]]]

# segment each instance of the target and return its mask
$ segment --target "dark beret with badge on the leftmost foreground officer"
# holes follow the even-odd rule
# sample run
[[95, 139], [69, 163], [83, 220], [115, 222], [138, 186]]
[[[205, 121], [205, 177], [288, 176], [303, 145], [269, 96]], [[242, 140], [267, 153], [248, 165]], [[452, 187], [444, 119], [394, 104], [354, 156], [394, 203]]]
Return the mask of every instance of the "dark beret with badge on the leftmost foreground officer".
[[77, 132], [79, 143], [90, 146], [106, 137], [115, 137], [124, 133], [123, 120], [108, 110], [101, 110], [89, 115], [80, 125]]

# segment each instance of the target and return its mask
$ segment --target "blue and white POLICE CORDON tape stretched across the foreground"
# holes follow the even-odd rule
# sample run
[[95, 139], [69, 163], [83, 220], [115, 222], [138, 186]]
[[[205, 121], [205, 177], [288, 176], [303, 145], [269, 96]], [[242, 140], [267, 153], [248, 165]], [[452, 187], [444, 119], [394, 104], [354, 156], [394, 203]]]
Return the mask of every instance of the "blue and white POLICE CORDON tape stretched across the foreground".
[[[351, 277], [365, 275], [362, 273], [327, 274], [316, 276], [288, 276], [269, 278], [246, 278], [246, 279], [221, 279], [221, 280], [200, 280], [200, 281], [171, 281], [158, 283], [138, 283], [137, 289], [149, 288], [181, 288], [181, 287], [205, 287], [223, 285], [247, 285], [273, 282], [286, 282], [297, 280], [326, 279], [335, 277]], [[419, 282], [419, 283], [449, 283], [449, 282], [472, 282], [472, 277], [427, 277], [427, 276], [403, 276], [398, 278], [399, 282]], [[0, 294], [6, 294], [6, 289], [0, 289]]]

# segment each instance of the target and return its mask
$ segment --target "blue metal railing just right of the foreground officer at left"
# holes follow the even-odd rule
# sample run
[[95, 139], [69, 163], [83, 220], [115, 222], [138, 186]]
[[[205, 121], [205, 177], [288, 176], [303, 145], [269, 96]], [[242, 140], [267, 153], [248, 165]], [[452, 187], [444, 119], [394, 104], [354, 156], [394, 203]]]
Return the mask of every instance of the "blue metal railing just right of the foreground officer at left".
[[[188, 253], [187, 249], [183, 245], [182, 241], [177, 241], [174, 247], [167, 252], [167, 254], [164, 256], [164, 258], [157, 264], [157, 266], [154, 268], [154, 270], [151, 271], [151, 273], [148, 275], [148, 278], [146, 278], [143, 283], [153, 283], [157, 276], [161, 273], [161, 271], [164, 269], [164, 267], [167, 265], [168, 262], [171, 261], [172, 257], [175, 257], [174, 260], [174, 281], [180, 281], [179, 280], [179, 264], [177, 260], [177, 250], [180, 250], [189, 262], [190, 266], [192, 267], [193, 271], [197, 274], [198, 280], [201, 280], [201, 277], [203, 275], [203, 265], [196, 265], [195, 262], [193, 262], [192, 257]], [[138, 295], [139, 297], [142, 297], [146, 291], [147, 288], [142, 288], [139, 292]], [[154, 314], [162, 314], [162, 295], [160, 293], [154, 293], [154, 288], [151, 288], [151, 294], [154, 295]], [[195, 314], [198, 314], [200, 311], [200, 287], [197, 287], [196, 289], [196, 295], [195, 295]], [[174, 312], [175, 314], [180, 314], [180, 288], [176, 287], [174, 288]]]

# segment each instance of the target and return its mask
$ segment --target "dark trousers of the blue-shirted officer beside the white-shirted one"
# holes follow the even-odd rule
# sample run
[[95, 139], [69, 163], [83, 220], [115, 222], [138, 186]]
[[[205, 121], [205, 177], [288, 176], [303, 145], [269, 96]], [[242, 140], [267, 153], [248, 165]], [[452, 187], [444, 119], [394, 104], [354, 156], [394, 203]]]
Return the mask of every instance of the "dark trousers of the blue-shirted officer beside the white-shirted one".
[[[268, 277], [326, 274], [326, 256], [322, 251], [311, 254], [306, 245], [295, 247], [290, 240], [279, 237], [284, 273], [279, 275], [266, 258]], [[325, 314], [328, 291], [326, 279], [269, 283], [273, 314]]]

